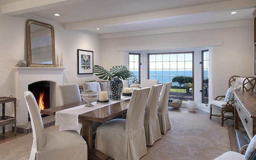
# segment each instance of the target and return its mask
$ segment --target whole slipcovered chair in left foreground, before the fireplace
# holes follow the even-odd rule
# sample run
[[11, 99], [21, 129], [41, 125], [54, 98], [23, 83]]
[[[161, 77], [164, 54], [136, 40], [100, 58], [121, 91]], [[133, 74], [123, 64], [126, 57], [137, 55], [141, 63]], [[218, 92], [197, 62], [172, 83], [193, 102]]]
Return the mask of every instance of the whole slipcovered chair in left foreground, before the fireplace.
[[86, 141], [75, 130], [44, 133], [42, 117], [34, 95], [26, 91], [33, 143], [30, 160], [87, 160]]

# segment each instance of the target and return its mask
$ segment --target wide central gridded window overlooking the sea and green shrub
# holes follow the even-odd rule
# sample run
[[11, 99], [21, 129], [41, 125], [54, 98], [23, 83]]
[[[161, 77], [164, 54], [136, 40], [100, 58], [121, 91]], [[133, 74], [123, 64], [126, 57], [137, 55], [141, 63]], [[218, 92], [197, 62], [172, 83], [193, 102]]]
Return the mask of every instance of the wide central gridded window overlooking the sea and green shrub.
[[172, 82], [170, 97], [192, 100], [194, 52], [148, 53], [148, 79]]

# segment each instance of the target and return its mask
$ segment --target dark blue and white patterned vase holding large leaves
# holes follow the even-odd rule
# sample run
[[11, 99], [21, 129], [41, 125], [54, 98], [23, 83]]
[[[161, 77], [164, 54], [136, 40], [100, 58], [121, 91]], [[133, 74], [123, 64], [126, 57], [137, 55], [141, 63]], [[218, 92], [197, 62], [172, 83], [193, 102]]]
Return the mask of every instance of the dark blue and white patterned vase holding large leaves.
[[111, 100], [120, 100], [123, 89], [123, 82], [119, 78], [113, 78], [109, 80], [110, 84], [110, 93], [109, 99]]

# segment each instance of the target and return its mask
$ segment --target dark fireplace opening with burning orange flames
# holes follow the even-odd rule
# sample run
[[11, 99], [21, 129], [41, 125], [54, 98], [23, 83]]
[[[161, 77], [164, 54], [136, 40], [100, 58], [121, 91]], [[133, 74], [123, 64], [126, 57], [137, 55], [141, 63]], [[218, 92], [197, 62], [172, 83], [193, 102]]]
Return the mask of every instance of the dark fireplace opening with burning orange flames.
[[[32, 92], [36, 98], [39, 111], [50, 108], [50, 82], [39, 81], [28, 85], [28, 91]], [[41, 114], [41, 117], [48, 115]], [[28, 113], [28, 121], [30, 121], [30, 115]]]

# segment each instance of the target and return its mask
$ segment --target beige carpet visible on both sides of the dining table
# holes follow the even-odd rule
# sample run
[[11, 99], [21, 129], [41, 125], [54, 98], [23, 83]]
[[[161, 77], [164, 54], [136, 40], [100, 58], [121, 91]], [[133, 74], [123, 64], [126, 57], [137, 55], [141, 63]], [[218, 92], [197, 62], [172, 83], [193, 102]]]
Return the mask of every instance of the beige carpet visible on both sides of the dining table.
[[[169, 117], [172, 128], [140, 160], [211, 160], [230, 150], [227, 126], [220, 126], [219, 117], [176, 112]], [[45, 128], [56, 130], [58, 126]], [[0, 144], [0, 160], [28, 160], [31, 146], [32, 133]]]

